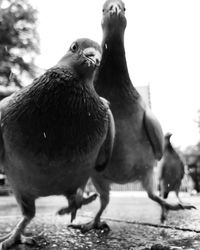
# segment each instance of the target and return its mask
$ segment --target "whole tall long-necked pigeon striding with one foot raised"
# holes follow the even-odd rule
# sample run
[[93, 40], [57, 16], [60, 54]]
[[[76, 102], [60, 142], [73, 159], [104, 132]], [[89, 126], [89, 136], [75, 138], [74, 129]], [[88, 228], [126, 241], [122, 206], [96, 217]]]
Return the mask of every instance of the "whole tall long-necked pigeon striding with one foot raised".
[[103, 5], [103, 53], [94, 86], [97, 93], [110, 102], [116, 136], [108, 167], [101, 173], [95, 170], [92, 173], [92, 182], [100, 194], [100, 209], [91, 222], [73, 226], [83, 232], [108, 228], [100, 218], [109, 203], [111, 183], [140, 181], [149, 198], [159, 203], [162, 210], [183, 209], [180, 204], [169, 204], [154, 191], [154, 166], [163, 155], [164, 135], [129, 77], [124, 47], [125, 10], [121, 0], [107, 0]]

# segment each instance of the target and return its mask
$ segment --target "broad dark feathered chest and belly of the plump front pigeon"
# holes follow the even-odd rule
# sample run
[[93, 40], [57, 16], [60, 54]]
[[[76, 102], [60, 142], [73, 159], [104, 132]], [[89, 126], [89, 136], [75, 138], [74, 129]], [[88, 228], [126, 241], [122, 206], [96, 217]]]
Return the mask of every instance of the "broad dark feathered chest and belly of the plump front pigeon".
[[49, 82], [16, 94], [2, 121], [10, 183], [35, 196], [85, 184], [108, 126], [107, 108], [90, 88]]

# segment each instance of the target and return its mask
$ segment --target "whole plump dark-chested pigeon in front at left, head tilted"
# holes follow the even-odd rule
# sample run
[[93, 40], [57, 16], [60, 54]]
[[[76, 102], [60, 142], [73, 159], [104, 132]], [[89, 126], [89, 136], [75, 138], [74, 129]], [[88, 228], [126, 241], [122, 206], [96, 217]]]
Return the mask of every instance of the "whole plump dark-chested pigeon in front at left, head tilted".
[[0, 249], [34, 242], [24, 231], [38, 197], [77, 196], [78, 208], [92, 169], [106, 168], [114, 121], [93, 86], [100, 60], [96, 42], [78, 39], [55, 67], [0, 102], [0, 162], [22, 212]]

